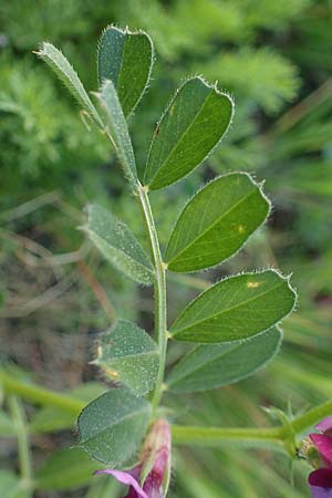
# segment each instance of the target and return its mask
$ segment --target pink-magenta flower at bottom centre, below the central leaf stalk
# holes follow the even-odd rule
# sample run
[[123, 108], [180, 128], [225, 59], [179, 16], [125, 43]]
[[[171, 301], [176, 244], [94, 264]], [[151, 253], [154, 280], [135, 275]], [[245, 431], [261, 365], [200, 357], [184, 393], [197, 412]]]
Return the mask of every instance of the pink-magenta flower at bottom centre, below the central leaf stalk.
[[139, 463], [128, 470], [107, 468], [95, 474], [108, 474], [129, 487], [125, 498], [164, 498], [170, 475], [170, 427], [158, 419], [143, 445]]

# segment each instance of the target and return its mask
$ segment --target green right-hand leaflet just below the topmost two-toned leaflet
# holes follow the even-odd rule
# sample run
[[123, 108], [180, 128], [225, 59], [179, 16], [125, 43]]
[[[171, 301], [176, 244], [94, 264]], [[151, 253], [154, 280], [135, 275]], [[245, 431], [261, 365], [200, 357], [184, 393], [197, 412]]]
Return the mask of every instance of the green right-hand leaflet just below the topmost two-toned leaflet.
[[231, 98], [193, 77], [177, 91], [155, 131], [145, 184], [157, 190], [198, 166], [220, 142], [232, 117]]

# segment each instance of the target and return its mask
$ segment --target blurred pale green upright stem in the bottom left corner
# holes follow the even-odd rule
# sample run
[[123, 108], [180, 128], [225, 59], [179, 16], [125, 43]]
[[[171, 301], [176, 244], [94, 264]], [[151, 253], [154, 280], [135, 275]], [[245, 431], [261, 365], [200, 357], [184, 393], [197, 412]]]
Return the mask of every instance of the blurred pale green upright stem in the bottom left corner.
[[8, 406], [18, 436], [21, 477], [24, 481], [24, 488], [29, 489], [32, 484], [32, 465], [24, 411], [20, 400], [14, 395], [8, 397]]

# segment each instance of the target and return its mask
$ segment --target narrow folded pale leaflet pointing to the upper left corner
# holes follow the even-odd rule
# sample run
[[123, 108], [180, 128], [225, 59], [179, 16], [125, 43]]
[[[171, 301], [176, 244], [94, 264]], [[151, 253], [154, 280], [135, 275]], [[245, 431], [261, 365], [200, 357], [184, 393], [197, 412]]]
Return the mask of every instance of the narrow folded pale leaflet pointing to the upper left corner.
[[103, 122], [98, 113], [96, 112], [95, 106], [91, 102], [91, 98], [87, 95], [76, 71], [65, 59], [63, 53], [54, 45], [52, 45], [52, 43], [45, 42], [41, 44], [40, 50], [35, 53], [55, 72], [58, 77], [63, 81], [72, 95], [87, 112], [87, 114], [96, 123], [96, 125], [103, 128]]

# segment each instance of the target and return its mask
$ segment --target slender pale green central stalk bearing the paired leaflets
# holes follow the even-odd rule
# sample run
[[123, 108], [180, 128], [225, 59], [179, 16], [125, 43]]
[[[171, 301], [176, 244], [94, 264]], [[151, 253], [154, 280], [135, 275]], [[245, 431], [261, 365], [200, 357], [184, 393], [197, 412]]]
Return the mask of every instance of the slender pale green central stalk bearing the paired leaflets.
[[159, 369], [155, 390], [152, 395], [152, 405], [154, 414], [164, 391], [164, 375], [166, 366], [166, 353], [167, 353], [167, 302], [166, 302], [166, 274], [165, 264], [163, 262], [158, 235], [154, 222], [154, 217], [151, 208], [151, 204], [147, 196], [147, 189], [138, 185], [138, 196], [142, 205], [144, 219], [148, 232], [151, 250], [155, 267], [155, 334], [159, 345]]

